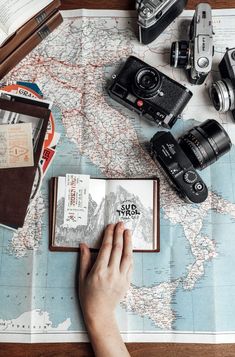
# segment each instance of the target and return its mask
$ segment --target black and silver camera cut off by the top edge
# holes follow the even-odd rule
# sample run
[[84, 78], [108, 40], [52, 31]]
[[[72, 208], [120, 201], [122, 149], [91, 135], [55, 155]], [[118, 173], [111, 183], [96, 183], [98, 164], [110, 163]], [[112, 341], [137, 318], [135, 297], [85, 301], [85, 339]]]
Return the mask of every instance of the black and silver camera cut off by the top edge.
[[137, 0], [139, 40], [155, 40], [187, 5], [187, 0]]

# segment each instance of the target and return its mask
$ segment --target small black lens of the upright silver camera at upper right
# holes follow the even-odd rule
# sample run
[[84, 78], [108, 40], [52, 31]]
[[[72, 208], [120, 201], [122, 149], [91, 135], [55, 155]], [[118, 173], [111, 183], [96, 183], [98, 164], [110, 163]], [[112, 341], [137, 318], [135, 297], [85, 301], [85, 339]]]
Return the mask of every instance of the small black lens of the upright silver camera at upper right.
[[189, 42], [177, 41], [171, 46], [171, 67], [185, 68], [189, 62]]

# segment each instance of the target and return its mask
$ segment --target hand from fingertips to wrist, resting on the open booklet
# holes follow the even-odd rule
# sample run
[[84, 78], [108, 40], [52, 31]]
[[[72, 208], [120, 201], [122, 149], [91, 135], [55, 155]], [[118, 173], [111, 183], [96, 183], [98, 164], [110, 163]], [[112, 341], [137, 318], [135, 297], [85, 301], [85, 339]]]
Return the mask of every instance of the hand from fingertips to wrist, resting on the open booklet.
[[115, 308], [130, 285], [131, 239], [122, 222], [108, 225], [93, 266], [89, 248], [80, 245], [79, 297], [88, 330], [94, 323], [105, 326], [115, 320]]

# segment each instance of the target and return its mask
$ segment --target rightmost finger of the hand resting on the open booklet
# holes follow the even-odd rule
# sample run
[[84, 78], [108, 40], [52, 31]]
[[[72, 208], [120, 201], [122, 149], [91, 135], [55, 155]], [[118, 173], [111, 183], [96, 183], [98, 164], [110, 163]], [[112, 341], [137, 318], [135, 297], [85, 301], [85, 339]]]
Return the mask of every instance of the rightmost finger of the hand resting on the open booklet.
[[126, 229], [124, 232], [123, 252], [122, 252], [122, 259], [120, 263], [121, 273], [127, 273], [128, 275], [131, 275], [132, 265], [133, 265], [132, 234], [129, 229]]

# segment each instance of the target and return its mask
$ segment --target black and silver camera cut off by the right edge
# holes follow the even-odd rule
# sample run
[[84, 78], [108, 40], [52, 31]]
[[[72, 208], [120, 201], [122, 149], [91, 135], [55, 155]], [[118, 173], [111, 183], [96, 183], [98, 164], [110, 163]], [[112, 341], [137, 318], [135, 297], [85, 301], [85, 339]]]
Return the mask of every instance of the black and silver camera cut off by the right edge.
[[231, 110], [235, 119], [235, 48], [227, 49], [219, 64], [222, 80], [212, 84], [210, 95], [220, 113]]

